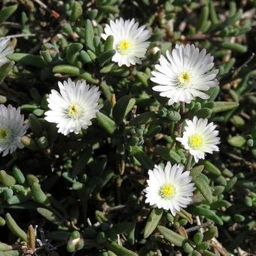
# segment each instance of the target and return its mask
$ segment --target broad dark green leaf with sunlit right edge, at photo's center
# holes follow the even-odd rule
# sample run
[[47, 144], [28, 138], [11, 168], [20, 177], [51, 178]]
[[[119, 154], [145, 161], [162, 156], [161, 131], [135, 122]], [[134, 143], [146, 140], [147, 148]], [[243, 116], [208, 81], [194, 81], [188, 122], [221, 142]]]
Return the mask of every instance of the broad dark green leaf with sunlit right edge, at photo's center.
[[130, 99], [130, 96], [123, 96], [117, 100], [112, 111], [114, 121], [117, 125], [123, 121], [124, 117], [126, 117], [126, 114], [133, 108], [134, 104], [135, 99]]

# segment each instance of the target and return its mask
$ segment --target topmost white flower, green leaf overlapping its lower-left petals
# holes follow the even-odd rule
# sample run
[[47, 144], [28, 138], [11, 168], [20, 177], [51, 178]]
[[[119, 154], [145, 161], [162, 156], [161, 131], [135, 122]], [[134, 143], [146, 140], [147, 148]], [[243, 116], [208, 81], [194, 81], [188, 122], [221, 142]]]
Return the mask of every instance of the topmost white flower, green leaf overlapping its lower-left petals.
[[140, 26], [135, 20], [111, 20], [110, 25], [106, 25], [105, 34], [102, 38], [106, 40], [109, 35], [114, 37], [114, 50], [116, 53], [112, 57], [112, 61], [118, 62], [118, 66], [141, 64], [140, 58], [145, 56], [150, 37], [150, 32], [145, 26]]

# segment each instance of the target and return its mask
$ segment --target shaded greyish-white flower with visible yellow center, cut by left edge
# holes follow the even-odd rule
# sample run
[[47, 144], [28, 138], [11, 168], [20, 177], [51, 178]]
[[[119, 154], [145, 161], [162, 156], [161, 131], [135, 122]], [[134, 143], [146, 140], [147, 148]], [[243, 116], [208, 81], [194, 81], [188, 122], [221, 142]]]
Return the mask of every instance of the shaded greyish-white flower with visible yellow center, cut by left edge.
[[29, 126], [23, 125], [24, 116], [20, 114], [20, 108], [8, 105], [0, 105], [0, 153], [3, 157], [12, 154], [17, 148], [24, 148], [20, 142]]

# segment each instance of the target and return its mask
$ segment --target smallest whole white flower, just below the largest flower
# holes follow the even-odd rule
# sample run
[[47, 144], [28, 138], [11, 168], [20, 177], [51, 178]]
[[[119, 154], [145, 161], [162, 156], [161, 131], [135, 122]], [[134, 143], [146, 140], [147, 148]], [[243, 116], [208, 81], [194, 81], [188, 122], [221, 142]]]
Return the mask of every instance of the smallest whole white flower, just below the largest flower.
[[207, 124], [207, 119], [200, 118], [198, 120], [197, 117], [194, 117], [193, 121], [186, 120], [186, 123], [183, 137], [176, 139], [194, 156], [196, 163], [200, 159], [205, 159], [206, 153], [212, 154], [213, 151], [218, 151], [216, 145], [221, 142], [218, 131], [215, 130], [216, 125]]

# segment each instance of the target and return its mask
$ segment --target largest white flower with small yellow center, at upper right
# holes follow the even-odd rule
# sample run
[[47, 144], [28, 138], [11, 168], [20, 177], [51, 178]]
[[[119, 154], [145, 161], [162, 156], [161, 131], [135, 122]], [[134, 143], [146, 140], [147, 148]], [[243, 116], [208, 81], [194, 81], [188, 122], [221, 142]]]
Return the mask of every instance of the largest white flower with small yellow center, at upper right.
[[152, 72], [151, 81], [157, 84], [153, 90], [160, 96], [169, 98], [169, 105], [174, 102], [190, 103], [194, 97], [209, 99], [203, 91], [218, 85], [215, 79], [218, 69], [214, 66], [213, 56], [206, 55], [206, 49], [199, 50], [194, 44], [176, 44], [172, 54], [166, 50], [167, 59], [161, 55], [157, 71]]

